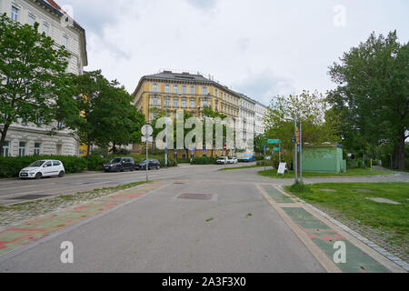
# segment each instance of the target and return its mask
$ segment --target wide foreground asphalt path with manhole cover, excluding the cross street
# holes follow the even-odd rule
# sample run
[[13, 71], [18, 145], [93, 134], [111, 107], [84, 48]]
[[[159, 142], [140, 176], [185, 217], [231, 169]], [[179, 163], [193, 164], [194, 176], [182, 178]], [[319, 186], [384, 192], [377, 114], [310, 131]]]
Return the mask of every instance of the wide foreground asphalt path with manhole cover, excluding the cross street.
[[[186, 193], [212, 194], [214, 199], [177, 198]], [[74, 264], [60, 261], [64, 241], [74, 245]], [[22, 253], [17, 249], [11, 257], [0, 256], [0, 272], [324, 269], [254, 184], [199, 180], [166, 183], [148, 196], [34, 243]]]

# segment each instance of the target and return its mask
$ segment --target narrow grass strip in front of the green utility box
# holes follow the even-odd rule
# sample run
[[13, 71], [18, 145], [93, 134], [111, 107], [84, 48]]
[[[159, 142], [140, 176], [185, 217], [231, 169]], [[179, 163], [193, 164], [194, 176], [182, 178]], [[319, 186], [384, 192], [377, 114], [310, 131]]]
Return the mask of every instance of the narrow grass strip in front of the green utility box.
[[[369, 168], [361, 169], [348, 169], [346, 173], [341, 174], [334, 174], [334, 173], [317, 173], [317, 172], [303, 172], [303, 176], [305, 177], [314, 177], [314, 176], [380, 176], [380, 175], [392, 175], [393, 172], [390, 171], [382, 171], [374, 169], [371, 171]], [[283, 177], [283, 175], [277, 176], [277, 170], [271, 169], [267, 171], [260, 171], [258, 175], [261, 176], [269, 176], [269, 177]], [[284, 174], [284, 178], [294, 178], [294, 171], [290, 171], [289, 173]]]

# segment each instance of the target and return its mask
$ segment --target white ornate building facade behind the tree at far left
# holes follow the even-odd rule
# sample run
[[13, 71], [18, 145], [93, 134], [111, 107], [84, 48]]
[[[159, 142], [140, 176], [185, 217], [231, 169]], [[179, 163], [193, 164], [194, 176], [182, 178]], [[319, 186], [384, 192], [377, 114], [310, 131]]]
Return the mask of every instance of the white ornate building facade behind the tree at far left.
[[[0, 13], [21, 24], [39, 24], [39, 31], [65, 45], [71, 53], [67, 72], [82, 75], [88, 65], [85, 30], [53, 0], [0, 0]], [[55, 123], [56, 125], [56, 123]], [[47, 135], [52, 126], [12, 124], [5, 137], [1, 156], [78, 156], [80, 140], [70, 130]]]

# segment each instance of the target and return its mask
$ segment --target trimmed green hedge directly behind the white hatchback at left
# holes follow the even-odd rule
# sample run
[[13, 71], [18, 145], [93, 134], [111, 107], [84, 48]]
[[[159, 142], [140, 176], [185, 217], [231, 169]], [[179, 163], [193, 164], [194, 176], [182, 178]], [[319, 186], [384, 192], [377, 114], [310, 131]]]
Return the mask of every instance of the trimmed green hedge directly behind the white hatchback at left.
[[78, 156], [7, 156], [0, 157], [0, 176], [18, 176], [18, 173], [38, 160], [59, 160], [65, 167], [65, 173], [81, 173], [87, 167], [85, 158]]

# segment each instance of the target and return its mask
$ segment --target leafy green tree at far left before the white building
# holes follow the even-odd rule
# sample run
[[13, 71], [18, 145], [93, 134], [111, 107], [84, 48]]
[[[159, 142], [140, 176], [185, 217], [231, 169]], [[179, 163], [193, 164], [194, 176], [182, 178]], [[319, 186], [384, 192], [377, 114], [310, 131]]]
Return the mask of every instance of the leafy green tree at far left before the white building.
[[0, 153], [13, 123], [49, 125], [75, 112], [65, 74], [69, 56], [64, 46], [38, 33], [37, 23], [21, 25], [0, 15]]

